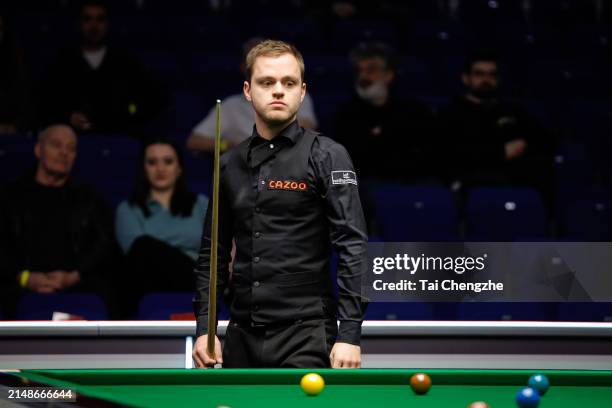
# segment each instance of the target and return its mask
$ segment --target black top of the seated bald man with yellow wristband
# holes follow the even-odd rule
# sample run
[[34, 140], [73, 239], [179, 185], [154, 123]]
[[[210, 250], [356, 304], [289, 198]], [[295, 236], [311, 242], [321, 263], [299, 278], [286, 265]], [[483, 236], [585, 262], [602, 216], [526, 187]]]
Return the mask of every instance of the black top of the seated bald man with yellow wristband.
[[0, 196], [0, 280], [16, 284], [24, 269], [78, 270], [82, 290], [100, 290], [113, 234], [110, 212], [95, 192], [72, 179], [44, 187], [28, 172]]

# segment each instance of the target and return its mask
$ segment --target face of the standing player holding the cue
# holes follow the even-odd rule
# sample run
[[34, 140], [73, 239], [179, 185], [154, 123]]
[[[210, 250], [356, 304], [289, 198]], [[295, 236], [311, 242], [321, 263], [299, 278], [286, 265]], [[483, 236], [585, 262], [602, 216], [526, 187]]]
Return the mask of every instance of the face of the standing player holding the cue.
[[300, 66], [291, 54], [258, 57], [251, 81], [244, 82], [245, 97], [257, 116], [274, 126], [295, 119], [305, 93]]

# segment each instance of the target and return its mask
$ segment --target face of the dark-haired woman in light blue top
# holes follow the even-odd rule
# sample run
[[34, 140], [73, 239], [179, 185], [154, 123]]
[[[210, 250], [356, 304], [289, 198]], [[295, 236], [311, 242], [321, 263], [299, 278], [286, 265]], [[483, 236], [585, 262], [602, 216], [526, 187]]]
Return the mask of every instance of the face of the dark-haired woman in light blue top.
[[152, 144], [145, 151], [145, 172], [151, 188], [171, 190], [181, 174], [181, 166], [172, 146]]

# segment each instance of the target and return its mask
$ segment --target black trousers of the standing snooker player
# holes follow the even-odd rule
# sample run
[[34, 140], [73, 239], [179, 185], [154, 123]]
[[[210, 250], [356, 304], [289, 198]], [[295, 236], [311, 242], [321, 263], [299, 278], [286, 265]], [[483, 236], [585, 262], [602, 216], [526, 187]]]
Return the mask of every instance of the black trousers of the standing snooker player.
[[230, 321], [223, 344], [225, 368], [329, 368], [335, 319], [253, 326]]

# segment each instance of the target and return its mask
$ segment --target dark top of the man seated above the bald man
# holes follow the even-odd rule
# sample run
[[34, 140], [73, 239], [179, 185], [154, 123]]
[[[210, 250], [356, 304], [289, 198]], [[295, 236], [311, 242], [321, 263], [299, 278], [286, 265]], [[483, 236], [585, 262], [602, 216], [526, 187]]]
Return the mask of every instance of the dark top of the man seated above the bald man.
[[130, 131], [148, 124], [166, 104], [165, 91], [129, 53], [109, 46], [97, 69], [78, 47], [62, 50], [43, 79], [40, 120], [68, 122], [84, 113], [92, 131]]

